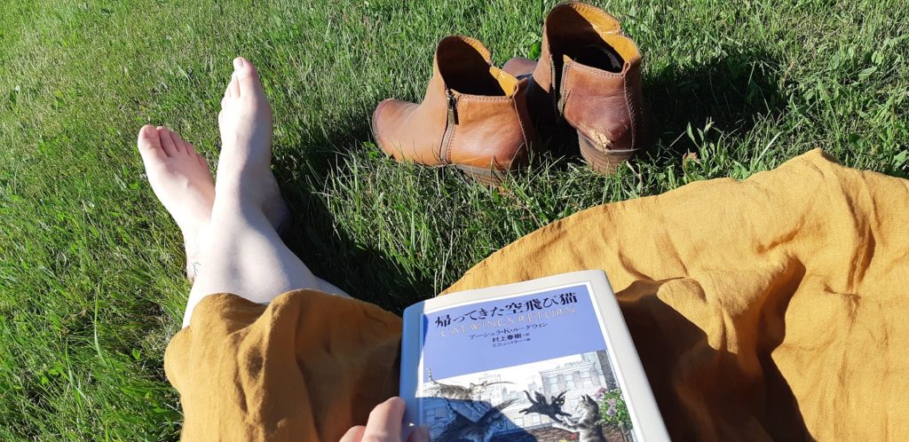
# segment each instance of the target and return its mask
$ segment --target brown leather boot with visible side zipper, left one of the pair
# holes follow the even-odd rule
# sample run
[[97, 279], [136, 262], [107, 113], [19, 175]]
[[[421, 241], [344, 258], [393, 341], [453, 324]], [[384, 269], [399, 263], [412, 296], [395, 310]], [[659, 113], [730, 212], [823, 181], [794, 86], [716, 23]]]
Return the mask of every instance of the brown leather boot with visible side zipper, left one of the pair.
[[494, 67], [473, 38], [447, 36], [435, 49], [423, 103], [388, 99], [373, 113], [385, 154], [426, 166], [454, 165], [484, 184], [527, 160], [533, 138], [527, 80]]

